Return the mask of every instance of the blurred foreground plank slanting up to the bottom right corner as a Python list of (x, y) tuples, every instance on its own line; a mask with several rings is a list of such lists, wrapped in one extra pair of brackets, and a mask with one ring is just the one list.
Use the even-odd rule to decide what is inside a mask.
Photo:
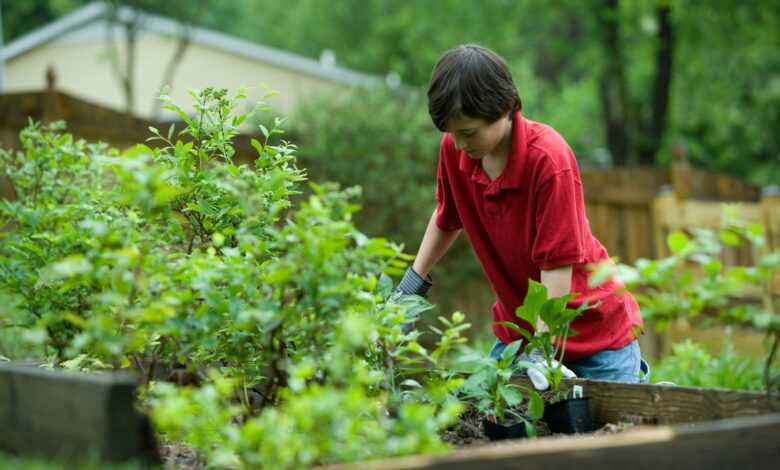
[[(523, 440), (446, 456), (416, 456), (360, 464), (361, 469), (739, 469), (775, 468), (780, 414), (621, 434)], [(357, 465), (347, 468), (358, 468)]]

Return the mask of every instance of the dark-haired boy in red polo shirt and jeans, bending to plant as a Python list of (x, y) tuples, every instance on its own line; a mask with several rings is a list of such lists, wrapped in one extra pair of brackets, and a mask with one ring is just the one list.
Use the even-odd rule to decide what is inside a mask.
[[(465, 230), (497, 297), (492, 357), (520, 338), (499, 322), (546, 328), (515, 315), (534, 279), (551, 297), (573, 293), (572, 308), (595, 305), (572, 323), (577, 335), (562, 358), (566, 376), (638, 382), (640, 369), (648, 370), (634, 297), (614, 280), (588, 286), (587, 265), (609, 255), (590, 232), (577, 161), (554, 129), (521, 109), (511, 73), (494, 52), (468, 44), (441, 57), (428, 88), (428, 110), (444, 133), (437, 207), (399, 290), (425, 295), (428, 273)], [(523, 359), (543, 367), (538, 354)], [(547, 388), (543, 373), (528, 373), (536, 388)]]

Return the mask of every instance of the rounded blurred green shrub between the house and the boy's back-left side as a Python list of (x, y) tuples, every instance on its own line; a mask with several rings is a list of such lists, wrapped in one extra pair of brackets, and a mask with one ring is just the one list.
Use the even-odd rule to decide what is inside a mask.
[[(441, 134), (418, 90), (383, 86), (323, 96), (296, 113), (299, 161), (317, 180), (363, 188), (355, 222), (366, 233), (400, 242), (414, 254), (436, 207), (436, 165)], [(442, 260), (432, 295), (451, 307), (458, 286), (481, 279), (465, 236)], [(478, 312), (489, 319), (490, 312)]]

